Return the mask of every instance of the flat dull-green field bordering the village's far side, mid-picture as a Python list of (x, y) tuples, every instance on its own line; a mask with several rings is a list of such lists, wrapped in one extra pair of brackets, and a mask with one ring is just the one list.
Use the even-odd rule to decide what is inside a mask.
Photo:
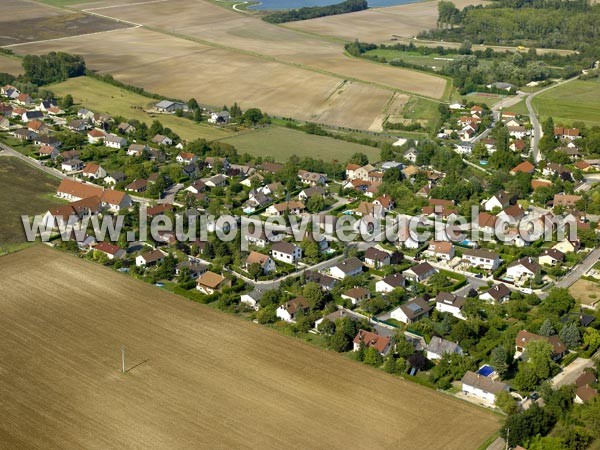
[(279, 162), (286, 162), (292, 155), (310, 156), (326, 161), (346, 161), (356, 152), (364, 153), (371, 162), (379, 161), (378, 148), (277, 126), (242, 133), (220, 141), (234, 145), (239, 153), (272, 156)]

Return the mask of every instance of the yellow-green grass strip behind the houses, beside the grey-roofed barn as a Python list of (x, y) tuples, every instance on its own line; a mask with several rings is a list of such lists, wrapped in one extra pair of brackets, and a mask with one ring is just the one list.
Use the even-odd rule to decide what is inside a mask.
[(210, 141), (233, 134), (231, 131), (208, 124), (197, 124), (171, 114), (146, 113), (144, 110), (149, 105), (157, 103), (158, 100), (129, 92), (94, 78), (71, 78), (62, 83), (53, 84), (48, 89), (59, 97), (71, 94), (76, 103), (94, 112), (137, 119), (146, 122), (148, 125), (155, 119), (159, 120), (165, 127), (181, 136), (182, 139), (189, 141), (200, 138)]

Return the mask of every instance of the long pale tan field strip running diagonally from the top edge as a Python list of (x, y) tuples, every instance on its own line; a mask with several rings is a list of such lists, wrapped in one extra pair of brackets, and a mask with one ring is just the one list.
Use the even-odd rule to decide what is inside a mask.
[(358, 79), (432, 98), (441, 98), (444, 94), (445, 79), (347, 57), (340, 42), (275, 26), (205, 0), (172, 0), (168, 8), (168, 15), (165, 15), (163, 2), (113, 5), (94, 8), (94, 12), (211, 45), (275, 58), (285, 64), (325, 71), (343, 79)]

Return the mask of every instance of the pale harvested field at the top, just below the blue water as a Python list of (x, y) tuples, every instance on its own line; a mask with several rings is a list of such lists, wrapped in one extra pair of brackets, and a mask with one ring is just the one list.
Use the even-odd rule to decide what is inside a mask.
[[(353, 41), (385, 42), (396, 36), (416, 36), (437, 26), (438, 1), (423, 1), (387, 8), (371, 8), (338, 16), (290, 22), (285, 26), (311, 33)], [(457, 8), (481, 5), (482, 0), (456, 0)]]

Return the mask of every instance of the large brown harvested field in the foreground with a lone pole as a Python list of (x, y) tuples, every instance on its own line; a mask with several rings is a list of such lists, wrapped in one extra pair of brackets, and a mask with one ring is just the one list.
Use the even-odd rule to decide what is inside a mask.
[(498, 427), (472, 405), (43, 246), (0, 258), (0, 275), (3, 448), (464, 450)]

